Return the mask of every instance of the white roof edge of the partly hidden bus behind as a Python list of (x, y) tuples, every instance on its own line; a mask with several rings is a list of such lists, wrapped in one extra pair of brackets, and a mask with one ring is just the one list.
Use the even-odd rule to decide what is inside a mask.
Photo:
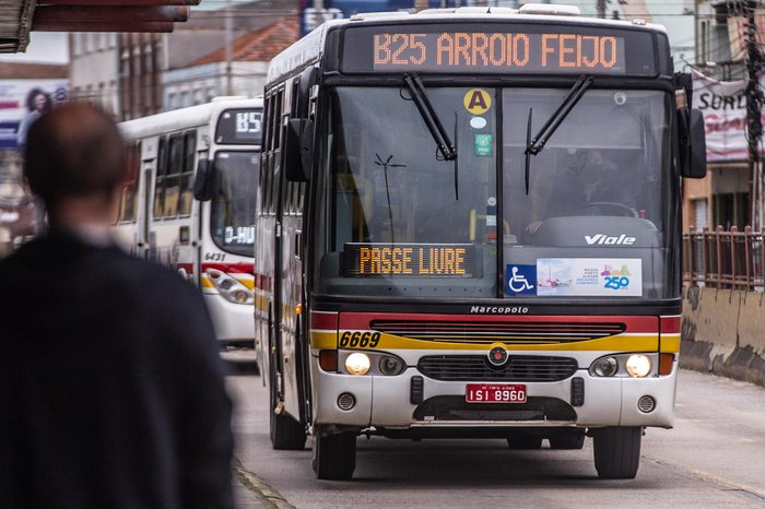
[(263, 99), (247, 97), (215, 97), (210, 103), (127, 120), (119, 125), (128, 140), (160, 135), (210, 123), (214, 115), (229, 108), (262, 108)]

